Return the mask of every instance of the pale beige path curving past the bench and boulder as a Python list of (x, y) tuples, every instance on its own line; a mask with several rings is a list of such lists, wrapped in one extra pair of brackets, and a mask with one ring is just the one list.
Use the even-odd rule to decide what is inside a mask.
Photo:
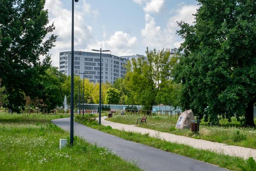
[(149, 135), (152, 137), (156, 136), (157, 134), (157, 136), (160, 136), (162, 139), (165, 139), (165, 141), (177, 142), (179, 144), (186, 144), (194, 148), (207, 149), (207, 150), (215, 151), (216, 153), (227, 154), (229, 156), (238, 156), (244, 159), (248, 159), (249, 157), (253, 157), (254, 159), (256, 158), (256, 149), (245, 148), (240, 146), (231, 146), (231, 145), (227, 145), (219, 142), (211, 142), (203, 139), (194, 139), (194, 138), (185, 137), (185, 136), (178, 136), (178, 135), (170, 134), (167, 132), (159, 132), (152, 129), (138, 127), (135, 125), (126, 125), (126, 124), (120, 124), (117, 122), (106, 121), (105, 118), (106, 117), (101, 118), (101, 124), (103, 124), (104, 126), (109, 125), (113, 129), (140, 132), (142, 134), (149, 133)]

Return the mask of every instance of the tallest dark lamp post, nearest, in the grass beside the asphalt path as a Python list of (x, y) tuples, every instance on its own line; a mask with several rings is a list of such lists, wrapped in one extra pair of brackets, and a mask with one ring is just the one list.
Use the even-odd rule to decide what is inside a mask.
[(70, 106), (70, 145), (74, 142), (74, 1), (72, 0), (72, 23), (71, 23), (71, 106)]

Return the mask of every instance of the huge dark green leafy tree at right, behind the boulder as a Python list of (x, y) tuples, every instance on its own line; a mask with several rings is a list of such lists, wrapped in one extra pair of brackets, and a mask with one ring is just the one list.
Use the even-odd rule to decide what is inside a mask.
[(256, 3), (252, 0), (199, 0), (195, 24), (178, 23), (184, 50), (174, 74), (182, 82), (181, 107), (217, 124), (244, 117), (255, 126)]

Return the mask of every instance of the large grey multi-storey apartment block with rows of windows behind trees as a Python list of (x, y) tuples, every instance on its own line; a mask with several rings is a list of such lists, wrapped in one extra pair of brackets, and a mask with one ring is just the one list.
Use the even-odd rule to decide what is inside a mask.
[[(100, 53), (74, 51), (74, 74), (89, 72), (84, 77), (90, 82), (99, 82)], [(124, 77), (127, 59), (111, 54), (101, 54), (101, 82), (113, 83), (117, 78)], [(71, 75), (71, 51), (60, 52), (59, 70), (66, 75)]]

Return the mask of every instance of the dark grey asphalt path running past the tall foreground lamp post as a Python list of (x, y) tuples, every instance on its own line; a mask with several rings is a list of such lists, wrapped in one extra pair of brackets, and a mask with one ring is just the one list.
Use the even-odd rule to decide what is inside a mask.
[[(69, 131), (70, 118), (54, 119), (52, 122)], [(179, 154), (128, 141), (74, 122), (74, 134), (90, 143), (105, 146), (121, 158), (134, 161), (145, 171), (225, 171), (227, 169), (191, 159)]]

